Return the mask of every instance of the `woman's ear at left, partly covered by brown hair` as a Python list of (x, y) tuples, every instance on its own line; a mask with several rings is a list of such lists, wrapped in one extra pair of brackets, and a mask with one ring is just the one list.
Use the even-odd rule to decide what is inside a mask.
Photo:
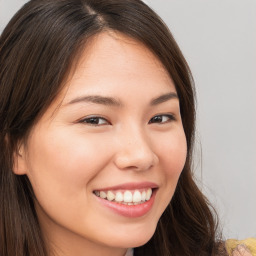
[(25, 146), (22, 144), (13, 153), (13, 172), (16, 175), (24, 175), (27, 174), (27, 169)]

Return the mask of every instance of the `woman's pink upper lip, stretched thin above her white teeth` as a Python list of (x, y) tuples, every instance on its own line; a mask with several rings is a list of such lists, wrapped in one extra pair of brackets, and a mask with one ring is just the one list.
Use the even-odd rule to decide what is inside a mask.
[(153, 182), (129, 182), (123, 183), (111, 187), (99, 188), (94, 191), (103, 191), (103, 190), (134, 190), (134, 189), (143, 189), (143, 188), (158, 188), (158, 185)]

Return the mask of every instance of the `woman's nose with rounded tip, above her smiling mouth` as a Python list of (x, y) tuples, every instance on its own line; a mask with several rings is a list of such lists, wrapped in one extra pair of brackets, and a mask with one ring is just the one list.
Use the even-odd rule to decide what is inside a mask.
[(122, 133), (118, 144), (115, 164), (121, 170), (146, 171), (159, 161), (150, 139), (142, 131)]

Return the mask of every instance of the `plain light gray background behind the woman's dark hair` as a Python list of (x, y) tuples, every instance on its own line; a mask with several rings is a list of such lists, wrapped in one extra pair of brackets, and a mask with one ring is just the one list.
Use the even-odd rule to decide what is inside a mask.
[[(0, 32), (25, 2), (0, 0)], [(227, 238), (256, 237), (256, 0), (145, 2), (167, 23), (194, 75), (200, 186)]]

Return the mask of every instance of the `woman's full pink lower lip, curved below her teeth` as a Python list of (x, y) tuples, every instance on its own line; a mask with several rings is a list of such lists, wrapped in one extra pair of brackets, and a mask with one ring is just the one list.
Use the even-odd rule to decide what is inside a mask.
[(104, 206), (108, 207), (110, 210), (114, 211), (115, 213), (122, 215), (124, 217), (129, 218), (138, 218), (146, 215), (152, 208), (155, 200), (156, 189), (153, 190), (151, 198), (142, 204), (137, 205), (125, 205), (120, 203), (115, 203), (108, 201), (106, 199), (102, 199), (97, 197), (99, 202)]

